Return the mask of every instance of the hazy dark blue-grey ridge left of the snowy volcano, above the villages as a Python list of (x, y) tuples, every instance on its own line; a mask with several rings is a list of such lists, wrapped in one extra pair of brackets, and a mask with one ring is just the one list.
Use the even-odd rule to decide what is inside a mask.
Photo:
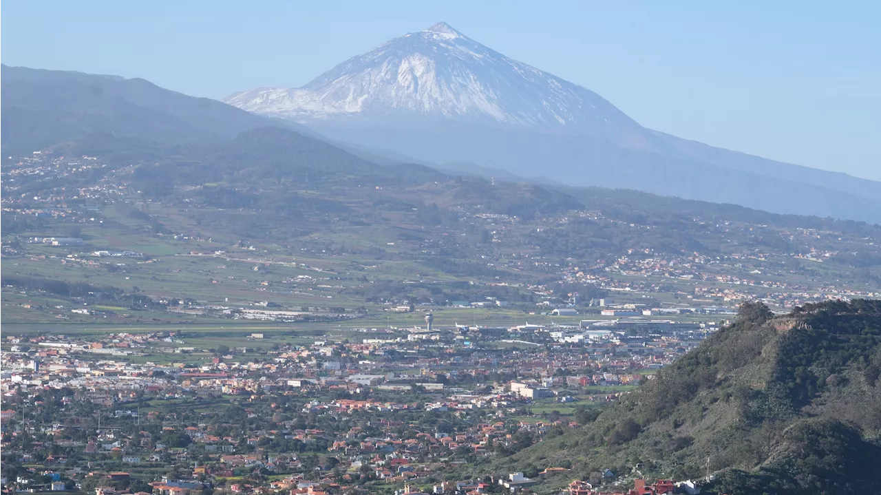
[(268, 125), (299, 128), (144, 79), (0, 65), (0, 150), (115, 140), (189, 144)]

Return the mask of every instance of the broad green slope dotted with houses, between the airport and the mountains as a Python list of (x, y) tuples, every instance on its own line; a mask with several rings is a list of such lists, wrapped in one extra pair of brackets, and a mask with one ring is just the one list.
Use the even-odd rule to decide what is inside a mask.
[[(247, 153), (265, 139), (278, 139), (278, 154), (255, 151), (244, 169), (177, 156), (124, 166), (58, 154), (6, 160), (4, 276), (114, 287), (116, 299), (149, 299), (160, 321), (261, 301), (297, 313), (279, 316), (292, 321), (381, 319), (419, 305), (441, 321), (441, 308), (473, 307), (488, 322), (542, 317), (571, 306), (575, 292), (581, 314), (598, 316), (597, 299), (660, 316), (876, 293), (875, 226), (734, 206), (700, 216), (700, 203), (638, 193), (376, 166), (291, 131), (233, 144)], [(337, 166), (272, 166), (315, 145)], [(72, 316), (41, 301), (60, 294), (11, 285), (11, 304), (31, 306), (26, 320)], [(169, 313), (171, 300), (187, 300), (188, 311)]]

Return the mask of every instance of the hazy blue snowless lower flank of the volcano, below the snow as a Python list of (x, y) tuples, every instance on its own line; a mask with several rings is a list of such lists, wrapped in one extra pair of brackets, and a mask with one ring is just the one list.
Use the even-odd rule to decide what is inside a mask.
[[(881, 223), (881, 191), (878, 196), (868, 192), (860, 195), (854, 184), (871, 191), (878, 183), (844, 174), (807, 169), (817, 176), (769, 176), (774, 167), (738, 169), (698, 158), (628, 149), (599, 138), (456, 122), (409, 128), (328, 124), (313, 127), (338, 141), (395, 150), (426, 162), (475, 163), (521, 177), (573, 186), (629, 188), (661, 196), (740, 204), (774, 213)], [(826, 179), (827, 176), (834, 178)], [(851, 181), (840, 183), (841, 176)], [(811, 177), (817, 183), (807, 183), (802, 177)], [(806, 198), (811, 199), (805, 201)]]

